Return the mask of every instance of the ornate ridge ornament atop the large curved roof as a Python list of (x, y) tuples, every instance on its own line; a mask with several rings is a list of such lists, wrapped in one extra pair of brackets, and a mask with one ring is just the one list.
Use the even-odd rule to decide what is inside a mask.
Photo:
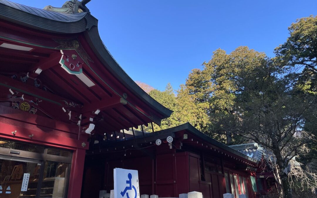
[(51, 5), (45, 6), (44, 10), (50, 10), (53, 12), (62, 12), (66, 14), (77, 14), (81, 12), (88, 12), (90, 13), (89, 9), (86, 7), (86, 4), (89, 3), (91, 0), (70, 0), (66, 1), (61, 8), (56, 8)]

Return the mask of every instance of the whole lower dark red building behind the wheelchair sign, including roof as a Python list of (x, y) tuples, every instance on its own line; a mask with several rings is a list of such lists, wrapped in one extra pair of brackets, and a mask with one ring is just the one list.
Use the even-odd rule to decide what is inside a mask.
[[(136, 133), (137, 131), (134, 131)], [(142, 134), (127, 134), (117, 141), (98, 142), (87, 151), (83, 197), (113, 189), (113, 168), (139, 171), (140, 194), (178, 197), (191, 191), (204, 197), (238, 198), (258, 195), (255, 176), (258, 160), (204, 135), (189, 123)], [(171, 143), (167, 139), (172, 137)], [(156, 140), (161, 140), (160, 145)]]

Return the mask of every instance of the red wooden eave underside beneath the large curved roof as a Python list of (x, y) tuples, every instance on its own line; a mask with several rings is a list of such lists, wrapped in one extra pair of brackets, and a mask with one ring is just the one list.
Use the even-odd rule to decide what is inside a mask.
[[(78, 118), (82, 114), (81, 124), (94, 123), (100, 134), (151, 122), (160, 124), (162, 115), (140, 101), (103, 67), (81, 35), (48, 35), (32, 30), (25, 31), (10, 24), (6, 28), (5, 24), (2, 23), (3, 28), (0, 31), (0, 45), (6, 43), (32, 49), (21, 51), (0, 47), (2, 105), (12, 106), (10, 103), (17, 100), (16, 98), (22, 98), (22, 95), (29, 100), (42, 97), (45, 102), (39, 103), (41, 107), (38, 108), (41, 109), (41, 116), (78, 124)], [(69, 74), (61, 67), (61, 42), (69, 39), (77, 40), (81, 49), (71, 51), (72, 48), (66, 48), (63, 49), (64, 52), (70, 51), (78, 57), (91, 57), (87, 58), (88, 64), (83, 66), (82, 73), (94, 86), (88, 87), (77, 75)], [(37, 68), (42, 68), (40, 74), (34, 73)], [(10, 93), (9, 89), (14, 94)], [(123, 98), (124, 93), (126, 99)], [(50, 105), (52, 101), (53, 105)], [(75, 107), (72, 106), (73, 103)], [(94, 114), (97, 109), (100, 113)], [(67, 119), (68, 117), (71, 118)], [(93, 121), (89, 118), (93, 118)]]

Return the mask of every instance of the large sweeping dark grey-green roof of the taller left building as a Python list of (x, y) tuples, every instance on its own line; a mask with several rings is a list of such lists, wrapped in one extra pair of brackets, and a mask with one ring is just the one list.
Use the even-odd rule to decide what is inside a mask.
[[(89, 2), (87, 0), (84, 1), (85, 3)], [(67, 3), (74, 3), (76, 8), (83, 8), (83, 10), (77, 11), (80, 13), (69, 14), (64, 13), (65, 9), (63, 10), (62, 8), (65, 7), (61, 8), (63, 12), (54, 12), (0, 0), (0, 19), (50, 33), (75, 34), (83, 32), (90, 47), (103, 65), (133, 94), (161, 114), (161, 119), (168, 118), (172, 111), (143, 91), (114, 60), (100, 39), (97, 28), (98, 20), (89, 13), (89, 10), (83, 5), (85, 3), (72, 0), (67, 1), (64, 5)], [(51, 7), (48, 7), (46, 9), (51, 9)]]

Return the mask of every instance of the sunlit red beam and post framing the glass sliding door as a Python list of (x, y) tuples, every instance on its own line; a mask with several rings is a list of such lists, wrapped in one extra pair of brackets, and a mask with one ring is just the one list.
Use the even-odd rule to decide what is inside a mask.
[[(78, 126), (0, 105), (0, 137), (23, 143), (45, 145), (73, 151), (68, 197), (79, 197), (84, 169), (87, 137)], [(12, 134), (16, 131), (16, 134)], [(29, 135), (33, 135), (29, 137)], [(80, 139), (78, 139), (80, 138)], [(85, 147), (82, 147), (85, 143)]]

